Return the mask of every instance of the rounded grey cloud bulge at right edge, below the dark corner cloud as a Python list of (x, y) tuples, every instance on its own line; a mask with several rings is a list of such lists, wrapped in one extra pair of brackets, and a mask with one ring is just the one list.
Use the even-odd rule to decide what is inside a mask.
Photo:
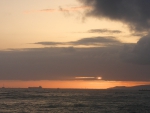
[(130, 63), (150, 65), (150, 35), (142, 37), (134, 47), (124, 47), (122, 58)]

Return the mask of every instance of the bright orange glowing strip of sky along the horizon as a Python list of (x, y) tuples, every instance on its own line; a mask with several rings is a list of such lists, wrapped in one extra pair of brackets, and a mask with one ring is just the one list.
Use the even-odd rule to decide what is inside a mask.
[(0, 81), (0, 87), (5, 88), (28, 88), (28, 87), (38, 87), (43, 88), (72, 88), (72, 89), (107, 89), (115, 86), (137, 86), (137, 85), (150, 85), (150, 82), (144, 81), (84, 81), (84, 80), (74, 80), (74, 81), (19, 81), (19, 80), (5, 80)]

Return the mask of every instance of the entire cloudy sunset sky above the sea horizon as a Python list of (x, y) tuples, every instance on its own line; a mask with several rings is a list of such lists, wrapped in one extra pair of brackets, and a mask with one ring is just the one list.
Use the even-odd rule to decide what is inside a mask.
[(150, 1), (1, 0), (0, 87), (150, 84)]

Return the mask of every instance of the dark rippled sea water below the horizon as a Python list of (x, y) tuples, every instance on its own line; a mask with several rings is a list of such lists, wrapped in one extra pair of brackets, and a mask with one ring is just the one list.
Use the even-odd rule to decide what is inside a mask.
[(0, 89), (0, 113), (150, 113), (150, 91)]

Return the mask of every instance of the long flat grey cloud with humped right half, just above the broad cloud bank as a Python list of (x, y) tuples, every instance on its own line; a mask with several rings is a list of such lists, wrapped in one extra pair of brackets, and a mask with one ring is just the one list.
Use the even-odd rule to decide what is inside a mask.
[(72, 42), (37, 42), (35, 44), (41, 45), (71, 45), (71, 46), (102, 46), (102, 45), (115, 45), (120, 44), (121, 42), (115, 39), (115, 37), (91, 37), (91, 38), (83, 38), (77, 41)]

